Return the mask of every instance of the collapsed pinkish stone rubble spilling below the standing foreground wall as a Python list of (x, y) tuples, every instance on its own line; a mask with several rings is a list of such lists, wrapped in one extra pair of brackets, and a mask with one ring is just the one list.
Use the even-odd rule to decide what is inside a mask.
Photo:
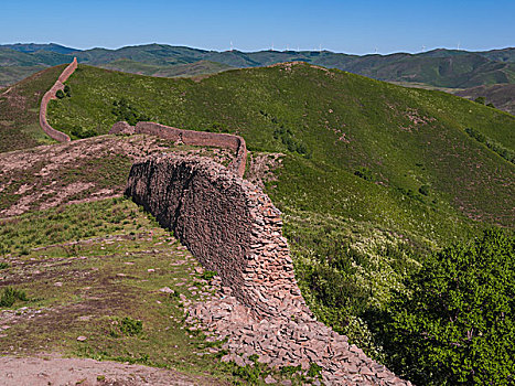
[(328, 385), (410, 385), (326, 325), (313, 319), (281, 315), (259, 321), (227, 293), (230, 291), (191, 305), (186, 319), (189, 323), (200, 322), (196, 328), (215, 331), (217, 340), (227, 339), (223, 349), (230, 354), (222, 361), (251, 365), (249, 356), (256, 354), (260, 363), (276, 368), (301, 365), (307, 371), (315, 363), (322, 367), (322, 379)]

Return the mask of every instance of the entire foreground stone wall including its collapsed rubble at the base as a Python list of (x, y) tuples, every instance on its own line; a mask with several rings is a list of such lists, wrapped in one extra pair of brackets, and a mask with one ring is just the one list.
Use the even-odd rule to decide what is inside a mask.
[(218, 274), (224, 296), (191, 313), (228, 336), (233, 353), (278, 367), (316, 363), (328, 384), (409, 385), (313, 318), (280, 212), (260, 189), (211, 160), (161, 156), (132, 165), (126, 194)]

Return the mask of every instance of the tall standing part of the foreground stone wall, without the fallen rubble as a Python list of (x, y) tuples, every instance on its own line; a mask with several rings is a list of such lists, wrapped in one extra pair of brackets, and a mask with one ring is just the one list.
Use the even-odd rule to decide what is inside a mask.
[(280, 212), (249, 182), (207, 159), (164, 156), (132, 165), (126, 194), (256, 315), (303, 307)]

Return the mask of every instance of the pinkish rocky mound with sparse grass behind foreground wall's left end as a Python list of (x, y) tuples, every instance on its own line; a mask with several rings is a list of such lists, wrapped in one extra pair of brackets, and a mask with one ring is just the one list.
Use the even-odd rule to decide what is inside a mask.
[(175, 147), (153, 136), (103, 136), (0, 153), (0, 218), (118, 196), (133, 161), (169, 151), (213, 157), (223, 164), (232, 159), (227, 150)]

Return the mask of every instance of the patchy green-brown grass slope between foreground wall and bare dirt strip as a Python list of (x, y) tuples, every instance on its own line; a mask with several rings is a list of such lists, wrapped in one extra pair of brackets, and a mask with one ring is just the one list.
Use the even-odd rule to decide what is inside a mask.
[[(0, 340), (3, 355), (58, 352), (235, 385), (265, 385), (269, 374), (293, 385), (316, 377), (222, 363), (223, 342), (206, 341), (190, 329), (181, 300), (212, 293), (214, 272), (197, 274), (193, 256), (128, 200), (32, 212), (1, 229), (2, 243), (10, 239), (26, 248), (26, 254), (10, 249), (3, 258), (9, 264), (2, 269), (0, 308), (19, 313)], [(163, 293), (163, 287), (174, 292)]]

